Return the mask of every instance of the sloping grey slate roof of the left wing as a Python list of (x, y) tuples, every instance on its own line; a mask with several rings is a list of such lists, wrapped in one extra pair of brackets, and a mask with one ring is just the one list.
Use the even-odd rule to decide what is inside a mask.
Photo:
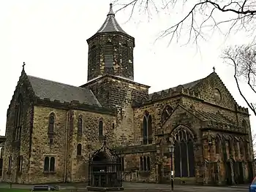
[(50, 101), (59, 100), (61, 102), (79, 101), (83, 104), (102, 107), (94, 94), (87, 88), (75, 87), (61, 82), (45, 80), (39, 77), (28, 75), (31, 86), (39, 99), (48, 98)]

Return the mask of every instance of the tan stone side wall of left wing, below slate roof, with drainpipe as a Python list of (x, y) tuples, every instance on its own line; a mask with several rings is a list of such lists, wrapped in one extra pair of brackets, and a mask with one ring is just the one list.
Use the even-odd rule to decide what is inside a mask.
[[(55, 127), (53, 144), (48, 138), (48, 122), (50, 113), (54, 113)], [(78, 117), (83, 118), (83, 134), (78, 137)], [(68, 118), (68, 121), (67, 121)], [(59, 183), (86, 181), (88, 177), (89, 154), (102, 145), (99, 138), (99, 119), (103, 120), (103, 133), (107, 142), (112, 144), (114, 134), (111, 115), (76, 110), (57, 110), (50, 107), (34, 107), (34, 128), (32, 139), (31, 169), (29, 183)], [(68, 125), (67, 143), (67, 176), (65, 174), (66, 159), (66, 125)], [(82, 145), (81, 155), (77, 155), (77, 146)], [(45, 156), (56, 158), (56, 172), (44, 173)]]

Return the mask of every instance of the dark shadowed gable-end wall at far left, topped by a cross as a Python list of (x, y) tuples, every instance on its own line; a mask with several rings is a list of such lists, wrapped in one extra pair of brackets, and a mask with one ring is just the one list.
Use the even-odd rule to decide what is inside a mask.
[[(4, 145), (3, 181), (12, 183), (26, 183), (29, 180), (29, 169), (31, 160), (31, 130), (33, 127), (33, 94), (28, 88), (29, 82), (24, 73), (21, 75), (14, 95), (7, 110), (7, 124), (5, 136), (7, 140)], [(15, 105), (18, 96), (23, 98), (22, 124), (20, 139), (15, 141)], [(23, 156), (22, 172), (18, 172), (18, 156)], [(12, 167), (8, 170), (9, 161), (12, 157)]]

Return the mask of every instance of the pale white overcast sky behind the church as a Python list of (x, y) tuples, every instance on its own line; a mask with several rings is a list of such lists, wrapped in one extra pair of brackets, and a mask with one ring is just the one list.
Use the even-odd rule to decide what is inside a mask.
[[(70, 85), (86, 82), (86, 39), (102, 26), (109, 4), (108, 0), (0, 1), (0, 134), (5, 133), (7, 108), (23, 61), (27, 74)], [(246, 107), (233, 80), (233, 69), (224, 64), (220, 53), (231, 42), (241, 44), (249, 38), (242, 33), (231, 34), (228, 39), (215, 34), (207, 42), (200, 42), (200, 52), (195, 45), (181, 46), (176, 42), (167, 47), (169, 39), (154, 43), (159, 32), (177, 20), (177, 15), (174, 12), (149, 19), (135, 15), (127, 22), (128, 11), (116, 14), (124, 31), (135, 37), (135, 81), (151, 85), (152, 93), (206, 77), (215, 66), (238, 104)], [(253, 94), (246, 84), (243, 90), (252, 101)], [(251, 126), (256, 128), (254, 115)]]

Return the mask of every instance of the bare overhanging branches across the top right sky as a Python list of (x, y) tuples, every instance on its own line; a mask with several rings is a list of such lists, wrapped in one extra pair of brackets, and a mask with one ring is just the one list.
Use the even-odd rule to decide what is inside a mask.
[[(179, 40), (181, 36), (187, 36), (188, 42), (196, 42), (197, 39), (206, 39), (209, 31), (214, 32), (218, 29), (222, 34), (228, 35), (230, 31), (244, 30), (246, 33), (255, 31), (256, 21), (256, 1), (255, 0), (116, 0), (114, 4), (118, 5), (120, 11), (130, 8), (129, 18), (135, 12), (143, 12), (149, 17), (152, 12), (170, 13), (170, 19), (179, 17), (176, 23), (166, 28), (159, 37), (170, 37)], [(183, 14), (180, 7), (187, 9)], [(173, 12), (178, 15), (172, 17)], [(187, 33), (181, 35), (181, 31)], [(205, 33), (206, 32), (206, 33)]]

